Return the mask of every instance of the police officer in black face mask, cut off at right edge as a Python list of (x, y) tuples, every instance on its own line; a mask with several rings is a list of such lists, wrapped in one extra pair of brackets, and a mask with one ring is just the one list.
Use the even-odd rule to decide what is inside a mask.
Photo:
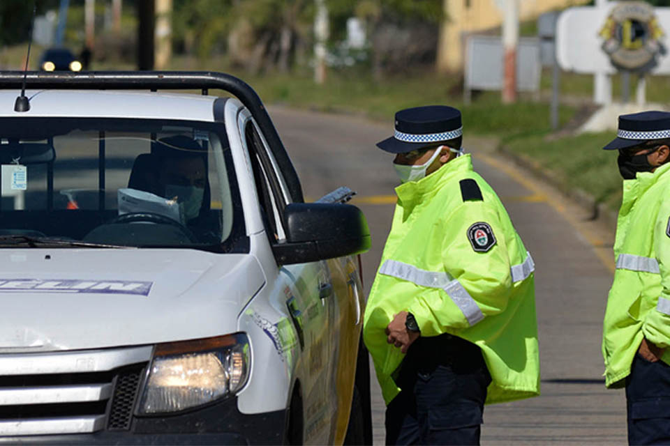
[(623, 176), (602, 353), (607, 387), (626, 387), (628, 441), (670, 444), (670, 113), (619, 116)]

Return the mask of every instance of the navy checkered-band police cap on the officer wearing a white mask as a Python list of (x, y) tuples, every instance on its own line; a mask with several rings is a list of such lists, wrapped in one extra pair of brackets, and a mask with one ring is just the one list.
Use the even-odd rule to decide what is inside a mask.
[(396, 113), (395, 134), (377, 143), (382, 151), (407, 153), (456, 139), (463, 134), (461, 112), (446, 105), (428, 105)]

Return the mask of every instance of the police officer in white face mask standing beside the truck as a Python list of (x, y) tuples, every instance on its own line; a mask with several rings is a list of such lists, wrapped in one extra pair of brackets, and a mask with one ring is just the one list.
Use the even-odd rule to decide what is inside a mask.
[(484, 403), (539, 394), (535, 265), (462, 133), (415, 107), (378, 144), (402, 182), (364, 321), (387, 444), (478, 444)]

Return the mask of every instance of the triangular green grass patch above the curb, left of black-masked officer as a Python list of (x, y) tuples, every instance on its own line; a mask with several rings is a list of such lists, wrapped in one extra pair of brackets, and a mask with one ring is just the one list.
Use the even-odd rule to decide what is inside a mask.
[(551, 138), (548, 134), (510, 137), (502, 141), (507, 151), (535, 160), (569, 189), (587, 192), (599, 203), (616, 210), (621, 201), (621, 176), (616, 151), (604, 151), (613, 132)]

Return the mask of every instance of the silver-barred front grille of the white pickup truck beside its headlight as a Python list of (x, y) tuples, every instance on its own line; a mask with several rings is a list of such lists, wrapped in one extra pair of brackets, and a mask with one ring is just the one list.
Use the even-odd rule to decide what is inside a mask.
[(150, 346), (0, 355), (0, 436), (129, 429), (150, 357)]

